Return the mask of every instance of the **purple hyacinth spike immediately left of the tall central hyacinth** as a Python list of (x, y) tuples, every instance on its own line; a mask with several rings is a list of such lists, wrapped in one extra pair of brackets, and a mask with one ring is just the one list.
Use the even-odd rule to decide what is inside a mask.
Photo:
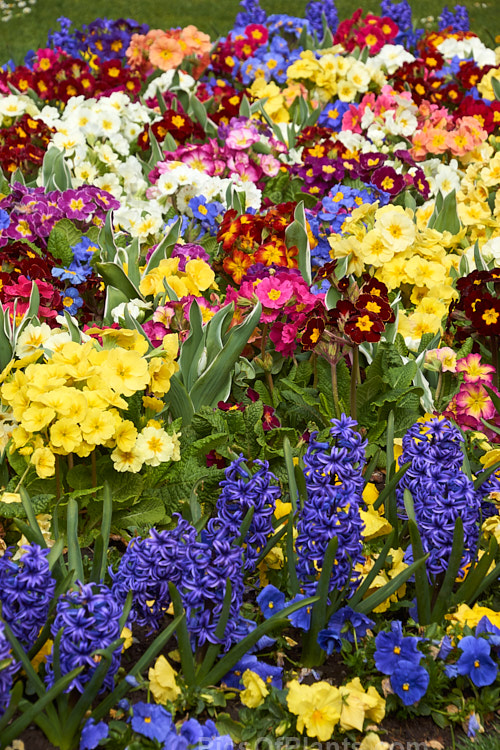
[(207, 529), (212, 538), (236, 539), (246, 514), (253, 508), (252, 522), (244, 540), (245, 570), (251, 571), (273, 533), (272, 516), (281, 490), (277, 478), (269, 471), (268, 461), (254, 461), (259, 467), (255, 474), (249, 474), (242, 466), (244, 461), (244, 456), (240, 455), (225, 470), (216, 516), (209, 521)]

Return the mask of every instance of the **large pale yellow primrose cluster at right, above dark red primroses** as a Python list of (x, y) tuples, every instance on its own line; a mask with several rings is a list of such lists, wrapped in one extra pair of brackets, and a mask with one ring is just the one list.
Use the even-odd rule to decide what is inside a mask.
[(450, 270), (460, 264), (465, 236), (465, 229), (452, 235), (430, 229), (427, 221), (402, 206), (363, 204), (345, 220), (342, 233), (328, 240), (332, 258), (350, 256), (348, 273), (361, 276), (372, 269), (389, 290), (401, 290), (405, 306), (415, 306), (399, 315), (399, 331), (415, 341), (442, 330), (449, 304), (458, 296)]

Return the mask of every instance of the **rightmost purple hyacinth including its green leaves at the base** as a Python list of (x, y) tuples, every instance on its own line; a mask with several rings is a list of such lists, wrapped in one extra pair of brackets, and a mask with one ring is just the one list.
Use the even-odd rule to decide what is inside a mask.
[[(473, 482), (462, 469), (462, 443), (458, 428), (438, 417), (417, 422), (403, 438), (401, 461), (410, 466), (396, 495), (409, 523), (406, 560), (427, 557), (415, 577), (421, 624), (440, 621), (451, 602), (472, 602), (500, 570), (488, 573), (494, 545), (477, 560), (483, 501), (500, 490), (500, 480), (488, 474), (485, 481), (480, 473)], [(457, 577), (465, 575), (457, 587)]]

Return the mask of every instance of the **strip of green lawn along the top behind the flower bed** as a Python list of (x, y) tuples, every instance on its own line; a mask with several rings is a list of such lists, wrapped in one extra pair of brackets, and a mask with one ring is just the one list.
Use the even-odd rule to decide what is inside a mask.
[[(0, 0), (0, 19), (5, 16), (6, 6), (16, 7), (24, 1)], [(486, 44), (494, 46), (493, 38), (500, 33), (500, 6), (496, 0), (459, 2), (469, 11), (471, 28)], [(410, 0), (410, 4), (414, 20), (422, 26), (422, 19), (437, 20), (446, 0)], [(454, 7), (454, 4), (454, 0), (448, 0), (449, 7)], [(262, 0), (261, 5), (268, 13), (303, 17), (307, 0)], [(337, 0), (336, 5), (341, 20), (350, 17), (359, 5), (365, 11), (380, 12), (378, 0), (361, 3)], [(193, 23), (215, 39), (229, 31), (238, 10), (238, 0), (181, 0), (179, 3), (169, 0), (36, 0), (30, 13), (23, 15), (19, 10), (11, 20), (0, 21), (0, 63), (13, 59), (19, 64), (29, 49), (44, 47), (49, 30), (58, 28), (59, 16), (71, 18), (76, 27), (99, 17), (134, 18), (151, 28), (161, 29)]]

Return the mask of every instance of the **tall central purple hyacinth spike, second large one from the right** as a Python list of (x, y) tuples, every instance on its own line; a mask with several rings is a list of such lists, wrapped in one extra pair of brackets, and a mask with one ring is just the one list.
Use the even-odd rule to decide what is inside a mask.
[(297, 575), (309, 596), (316, 593), (319, 571), (333, 537), (338, 539), (338, 549), (330, 591), (342, 589), (351, 569), (362, 560), (359, 506), (367, 441), (356, 432), (357, 422), (345, 414), (331, 422), (332, 443), (318, 442), (317, 433), (313, 433), (304, 456), (307, 500), (299, 513), (296, 548)]

